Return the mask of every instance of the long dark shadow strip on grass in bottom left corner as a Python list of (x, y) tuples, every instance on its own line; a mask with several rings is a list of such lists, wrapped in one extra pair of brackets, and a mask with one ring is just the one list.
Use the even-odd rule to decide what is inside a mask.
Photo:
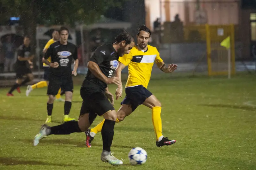
[(50, 165), (50, 166), (78, 166), (58, 163), (48, 163), (36, 160), (20, 160), (19, 158), (0, 157), (0, 164), (3, 165)]

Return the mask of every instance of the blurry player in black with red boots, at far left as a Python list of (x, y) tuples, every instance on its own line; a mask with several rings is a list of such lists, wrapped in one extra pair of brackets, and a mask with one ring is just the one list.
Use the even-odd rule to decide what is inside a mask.
[(31, 68), (33, 68), (33, 63), (31, 62), (31, 60), (34, 58), (34, 55), (31, 53), (31, 47), (29, 46), (29, 44), (30, 39), (28, 36), (25, 36), (23, 44), (19, 47), (18, 58), (15, 63), (17, 80), (10, 89), (10, 91), (7, 93), (7, 96), (13, 96), (12, 92), (15, 89), (17, 89), (17, 91), (20, 93), (20, 86), (34, 79), (34, 76), (30, 70)]

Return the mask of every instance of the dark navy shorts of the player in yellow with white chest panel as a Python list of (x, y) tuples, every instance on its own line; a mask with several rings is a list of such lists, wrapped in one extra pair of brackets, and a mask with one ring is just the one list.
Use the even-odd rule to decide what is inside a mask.
[(143, 104), (146, 98), (153, 95), (148, 89), (143, 87), (142, 85), (134, 86), (134, 87), (127, 87), (125, 88), (124, 100), (121, 104), (131, 104), (132, 105), (132, 112), (140, 105)]

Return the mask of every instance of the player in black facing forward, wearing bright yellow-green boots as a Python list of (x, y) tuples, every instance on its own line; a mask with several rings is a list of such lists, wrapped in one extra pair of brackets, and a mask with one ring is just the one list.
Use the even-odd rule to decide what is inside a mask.
[[(69, 118), (68, 114), (71, 109), (71, 101), (73, 96), (73, 80), (72, 74), (76, 76), (78, 67), (77, 48), (75, 44), (68, 42), (68, 28), (60, 27), (60, 41), (52, 43), (44, 56), (44, 63), (51, 66), (49, 86), (47, 89), (47, 120), (52, 121), (52, 109), (55, 95), (61, 88), (65, 91), (64, 118), (63, 122), (72, 121), (75, 119)], [(51, 63), (47, 60), (51, 57)], [(71, 62), (74, 59), (74, 69), (71, 71)]]

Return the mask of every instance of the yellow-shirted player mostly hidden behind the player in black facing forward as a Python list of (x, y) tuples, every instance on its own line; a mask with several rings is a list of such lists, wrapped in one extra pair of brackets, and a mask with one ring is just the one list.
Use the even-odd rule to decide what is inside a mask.
[[(47, 44), (44, 46), (44, 50), (43, 50), (43, 53), (46, 52), (46, 50), (50, 47), (50, 45), (56, 41), (58, 41), (60, 39), (60, 35), (59, 35), (59, 32), (58, 30), (54, 30), (52, 32), (52, 39), (49, 40), (47, 42)], [(51, 62), (51, 57), (49, 57), (47, 59), (49, 62)], [(44, 63), (44, 58), (43, 58), (43, 67), (44, 67), (44, 80), (45, 81), (40, 81), (32, 86), (28, 86), (27, 87), (27, 90), (26, 90), (26, 96), (29, 95), (29, 93), (33, 90), (33, 89), (37, 89), (37, 88), (43, 88), (43, 87), (47, 87), (48, 84), (49, 84), (49, 74), (50, 74), (50, 66), (48, 66), (47, 64)], [(64, 99), (62, 99), (60, 97), (60, 90), (58, 92), (58, 94), (56, 95), (56, 100), (57, 101), (61, 101), (61, 102), (65, 102)]]

